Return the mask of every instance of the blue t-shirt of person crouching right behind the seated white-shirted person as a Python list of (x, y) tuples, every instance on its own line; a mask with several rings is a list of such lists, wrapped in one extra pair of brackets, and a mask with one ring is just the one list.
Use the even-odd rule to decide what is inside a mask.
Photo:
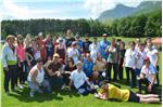
[(84, 61), (83, 69), (87, 77), (92, 73), (93, 62), (88, 62), (87, 59)]

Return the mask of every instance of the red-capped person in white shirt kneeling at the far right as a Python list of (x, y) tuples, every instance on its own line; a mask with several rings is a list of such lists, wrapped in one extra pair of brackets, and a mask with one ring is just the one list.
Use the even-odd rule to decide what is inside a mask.
[(142, 83), (147, 85), (147, 93), (153, 93), (153, 88), (156, 84), (156, 68), (150, 63), (149, 57), (145, 57), (145, 65), (141, 68), (138, 83), (139, 93), (141, 93)]

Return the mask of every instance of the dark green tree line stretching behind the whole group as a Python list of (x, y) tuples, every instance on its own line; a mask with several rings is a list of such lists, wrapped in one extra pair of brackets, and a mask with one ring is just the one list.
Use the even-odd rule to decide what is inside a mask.
[(98, 19), (18, 19), (2, 21), (1, 37), (8, 35), (37, 36), (38, 32), (52, 36), (65, 36), (66, 29), (74, 35), (101, 36), (106, 32), (111, 36), (121, 37), (161, 37), (162, 36), (162, 12), (155, 11), (147, 14), (128, 16), (113, 21), (111, 25), (104, 25)]

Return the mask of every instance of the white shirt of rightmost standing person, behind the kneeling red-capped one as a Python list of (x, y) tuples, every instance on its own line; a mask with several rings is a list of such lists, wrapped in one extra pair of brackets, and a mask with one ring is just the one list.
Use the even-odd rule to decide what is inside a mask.
[(147, 56), (150, 58), (150, 62), (153, 66), (155, 66), (155, 61), (156, 61), (156, 57), (158, 57), (156, 53), (158, 53), (156, 49), (152, 49), (151, 51), (149, 50), (147, 52)]

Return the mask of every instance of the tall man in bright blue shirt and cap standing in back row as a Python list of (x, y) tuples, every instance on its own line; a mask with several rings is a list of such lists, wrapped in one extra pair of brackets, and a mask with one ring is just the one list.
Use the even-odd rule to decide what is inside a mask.
[(100, 41), (100, 53), (101, 53), (102, 58), (106, 59), (108, 56), (106, 56), (106, 54), (105, 54), (105, 49), (106, 49), (108, 45), (110, 45), (111, 43), (110, 43), (110, 41), (106, 40), (106, 38), (108, 38), (108, 35), (106, 35), (106, 34), (103, 34), (102, 37), (103, 37), (103, 40)]

